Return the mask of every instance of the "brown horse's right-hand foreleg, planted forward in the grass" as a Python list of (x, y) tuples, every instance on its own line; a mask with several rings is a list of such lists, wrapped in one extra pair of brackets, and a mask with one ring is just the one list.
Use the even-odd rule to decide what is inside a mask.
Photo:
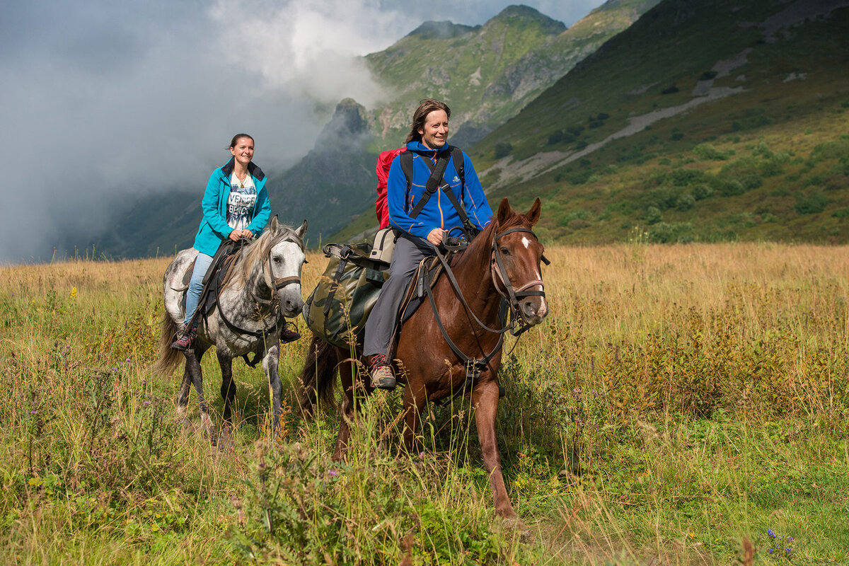
[(475, 405), (475, 424), (478, 439), (481, 440), (483, 463), (489, 474), (495, 511), (503, 518), (515, 517), (516, 512), (510, 504), (504, 477), (501, 474), (501, 455), (498, 453), (498, 440), (495, 436), (495, 415), (498, 412), (498, 382), (494, 379), (475, 385), (472, 392)]

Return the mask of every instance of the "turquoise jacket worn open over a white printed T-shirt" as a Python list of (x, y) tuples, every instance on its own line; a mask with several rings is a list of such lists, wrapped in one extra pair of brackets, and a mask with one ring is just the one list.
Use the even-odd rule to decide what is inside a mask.
[[(227, 199), (230, 196), (230, 176), (233, 175), (233, 158), (226, 165), (212, 171), (209, 182), (206, 183), (204, 199), (200, 208), (204, 211), (200, 228), (194, 237), (194, 249), (206, 255), (215, 255), (218, 246), (226, 240), (233, 228), (227, 223)], [(248, 164), (248, 172), (253, 177), (256, 187), (256, 202), (252, 220), (247, 227), (254, 236), (259, 236), (271, 216), (271, 204), (265, 188), (266, 176), (262, 170), (253, 164)]]

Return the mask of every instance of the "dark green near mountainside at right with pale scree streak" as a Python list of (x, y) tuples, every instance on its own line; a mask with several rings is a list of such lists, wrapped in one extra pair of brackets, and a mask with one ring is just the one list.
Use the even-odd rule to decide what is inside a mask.
[(666, 0), (470, 153), (550, 240), (846, 242), (846, 37), (846, 1)]

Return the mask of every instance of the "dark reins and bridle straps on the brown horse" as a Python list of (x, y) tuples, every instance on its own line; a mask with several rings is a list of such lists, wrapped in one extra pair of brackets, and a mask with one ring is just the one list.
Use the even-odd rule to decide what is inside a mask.
[[(527, 322), (524, 314), (522, 314), (519, 300), (528, 296), (545, 297), (545, 291), (543, 290), (543, 282), (540, 280), (534, 280), (529, 283), (525, 283), (518, 289), (515, 289), (514, 286), (510, 283), (509, 275), (507, 274), (507, 270), (504, 267), (503, 261), (501, 259), (501, 252), (498, 250), (498, 239), (502, 238), (503, 236), (506, 236), (509, 233), (515, 232), (526, 232), (533, 235), (534, 238), (537, 237), (536, 234), (531, 231), (531, 229), (524, 227), (510, 228), (509, 230), (505, 230), (503, 233), (493, 235), (492, 237), (492, 260), (490, 261), (490, 274), (492, 276), (492, 283), (495, 287), (496, 292), (501, 295), (503, 299), (508, 300), (509, 308), (511, 311), (509, 324), (504, 328), (499, 329), (489, 328), (488, 326), (486, 326), (486, 323), (482, 322), (481, 319), (478, 318), (477, 315), (475, 315), (475, 312), (472, 311), (471, 307), (469, 306), (469, 303), (465, 300), (465, 297), (463, 296), (463, 291), (462, 289), (460, 289), (459, 283), (457, 282), (457, 278), (454, 277), (451, 266), (448, 265), (445, 256), (442, 255), (438, 246), (434, 246), (434, 249), (436, 249), (436, 257), (441, 262), (442, 267), (445, 270), (446, 276), (448, 277), (448, 281), (451, 283), (451, 286), (454, 289), (454, 293), (457, 294), (458, 299), (463, 305), (463, 308), (466, 313), (469, 314), (482, 329), (486, 330), (486, 332), (498, 334), (498, 343), (495, 345), (495, 347), (489, 354), (483, 356), (482, 358), (472, 358), (467, 356), (463, 352), (463, 350), (459, 349), (458, 345), (454, 344), (451, 337), (448, 336), (448, 332), (445, 328), (445, 325), (442, 324), (441, 317), (439, 316), (439, 311), (436, 309), (436, 299), (433, 296), (433, 282), (430, 281), (430, 274), (425, 275), (425, 277), (427, 277), (427, 284), (424, 285), (424, 290), (427, 293), (428, 300), (430, 300), (430, 308), (433, 311), (434, 318), (436, 319), (436, 325), (439, 327), (439, 330), (442, 333), (442, 338), (445, 339), (447, 345), (451, 348), (454, 354), (457, 355), (458, 358), (460, 358), (460, 360), (464, 362), (464, 365), (466, 367), (466, 380), (463, 387), (461, 389), (458, 389), (458, 391), (455, 392), (454, 395), (447, 398), (447, 400), (443, 401), (443, 403), (447, 403), (447, 401), (453, 399), (454, 396), (467, 389), (469, 385), (474, 384), (477, 378), (481, 377), (481, 373), (483, 373), (483, 370), (486, 369), (486, 367), (489, 365), (489, 362), (492, 360), (492, 357), (494, 357), (498, 353), (498, 351), (501, 350), (504, 343), (504, 333), (510, 332), (517, 338), (515, 344), (513, 345), (513, 347), (515, 348), (516, 345), (519, 344), (518, 338), (520, 337), (520, 335), (524, 333), (528, 328), (531, 328), (532, 325)], [(548, 259), (544, 257), (543, 261), (546, 265), (549, 264)], [(505, 289), (504, 292), (502, 292), (501, 289), (498, 289), (498, 282), (496, 279), (497, 274), (498, 280), (501, 281), (503, 288)], [(526, 290), (537, 285), (539, 285), (540, 287), (540, 290), (538, 291)], [(515, 330), (516, 323), (518, 321), (521, 321), (521, 325), (518, 330)], [(512, 351), (512, 349), (510, 351)]]

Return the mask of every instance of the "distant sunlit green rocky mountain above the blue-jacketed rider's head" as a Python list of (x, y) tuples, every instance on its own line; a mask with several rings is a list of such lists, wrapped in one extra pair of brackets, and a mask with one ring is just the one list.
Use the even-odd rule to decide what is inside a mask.
[(470, 146), (656, 3), (609, 2), (568, 30), (526, 6), (475, 27), (427, 22), (366, 57), (390, 92), (372, 112), (374, 132), (383, 143), (402, 141), (413, 109), (430, 96), (453, 109), (453, 143)]

